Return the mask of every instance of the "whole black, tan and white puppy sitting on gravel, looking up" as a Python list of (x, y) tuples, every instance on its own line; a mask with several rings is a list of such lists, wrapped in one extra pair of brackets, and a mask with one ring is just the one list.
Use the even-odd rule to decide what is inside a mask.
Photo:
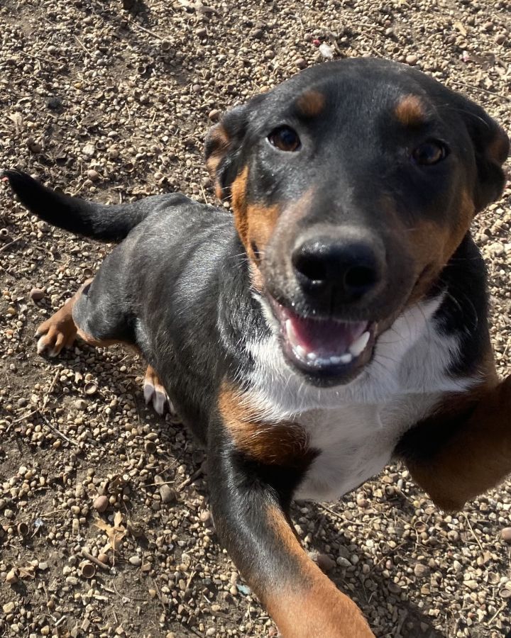
[(121, 241), (38, 351), (76, 335), (141, 350), (145, 395), (160, 411), (168, 395), (207, 447), (218, 535), (287, 637), (373, 635), (307, 559), (292, 498), (338, 498), (397, 457), (454, 510), (511, 471), (511, 377), (495, 374), (469, 232), (508, 148), (468, 99), (362, 59), (307, 69), (211, 130), (233, 217), (5, 173), (40, 218)]

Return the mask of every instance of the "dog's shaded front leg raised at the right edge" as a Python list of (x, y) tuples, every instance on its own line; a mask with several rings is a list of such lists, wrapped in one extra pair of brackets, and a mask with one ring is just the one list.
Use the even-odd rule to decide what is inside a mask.
[(451, 396), (397, 452), (436, 505), (461, 510), (511, 473), (511, 376)]

